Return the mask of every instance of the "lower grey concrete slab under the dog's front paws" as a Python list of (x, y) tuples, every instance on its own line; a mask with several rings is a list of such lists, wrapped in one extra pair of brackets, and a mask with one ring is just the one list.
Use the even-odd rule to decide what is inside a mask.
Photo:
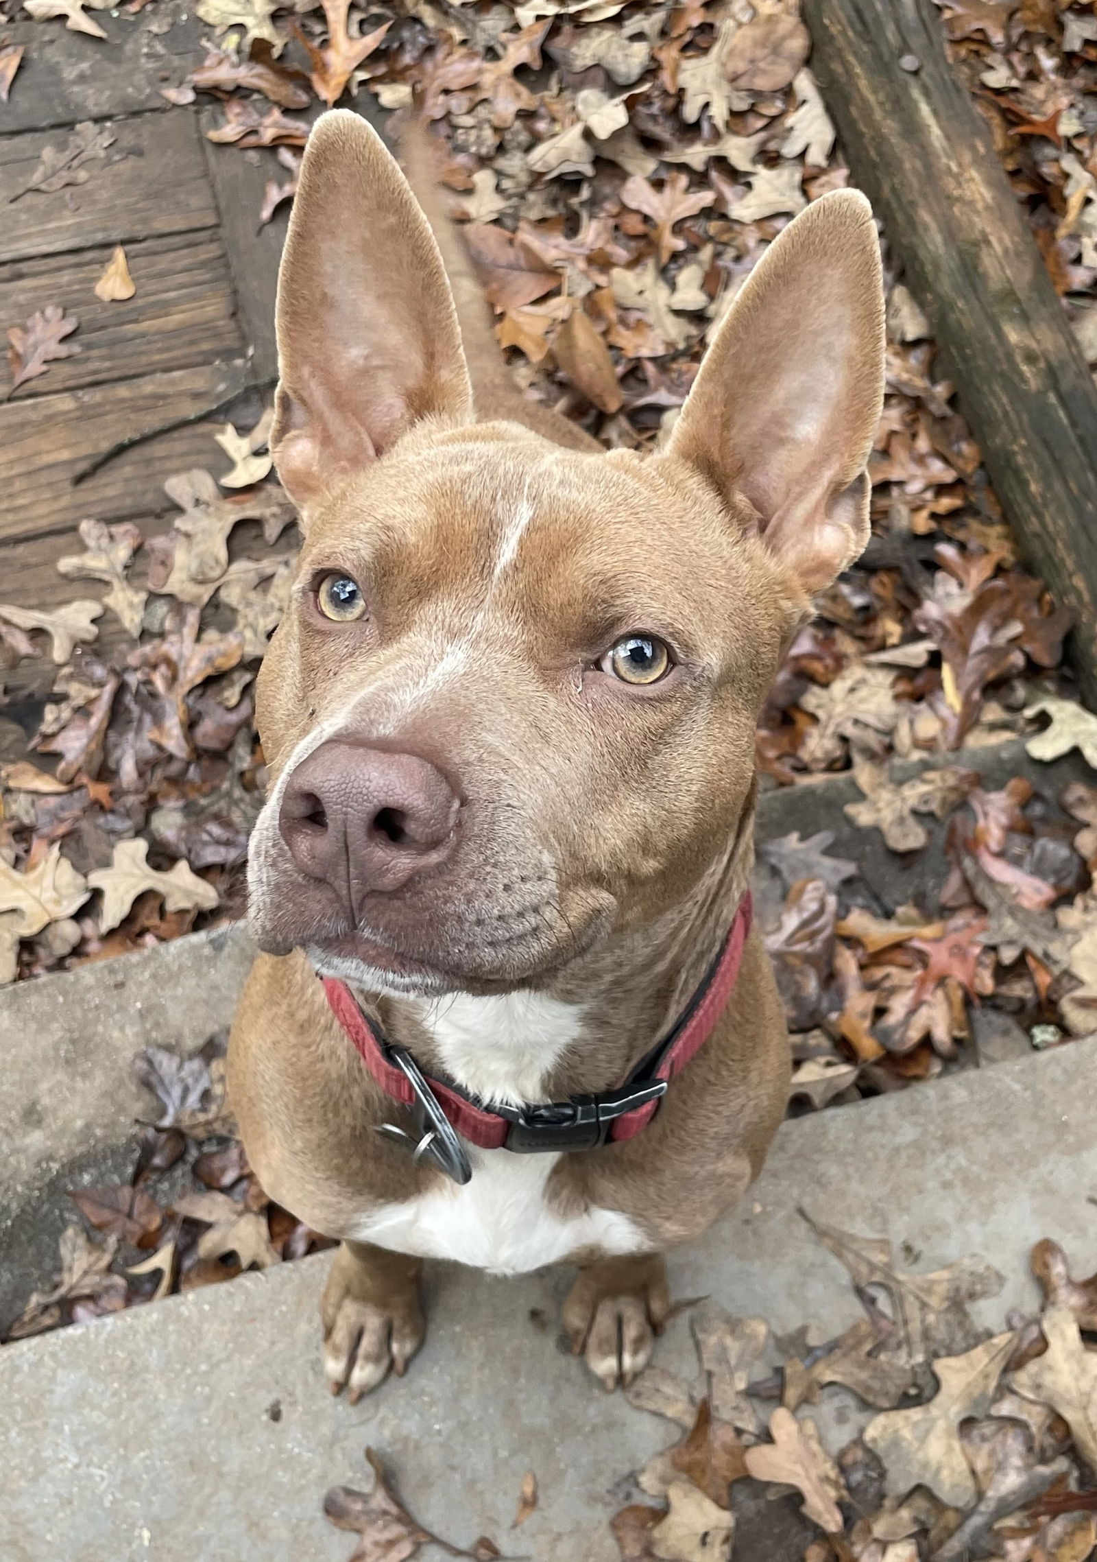
[[(1036, 1239), (1060, 1240), (1081, 1273), (1097, 1267), (1091, 1193), (1097, 1040), (785, 1123), (743, 1211), (674, 1256), (674, 1292), (712, 1293), (782, 1332), (808, 1320), (841, 1329), (858, 1306), (799, 1218), (805, 1206), (908, 1243), (918, 1270), (982, 1253), (1005, 1275), (1002, 1295), (980, 1303), (983, 1321), (1000, 1325), (1008, 1307), (1035, 1304)], [(674, 1429), (559, 1354), (568, 1273), (507, 1281), (435, 1267), (431, 1331), (409, 1376), (351, 1407), (320, 1375), (326, 1265), (323, 1254), (5, 1346), (0, 1557), (345, 1562), (353, 1542), (320, 1503), (328, 1485), (368, 1484), (368, 1442), (412, 1512), (459, 1545), (488, 1534), (537, 1562), (613, 1562), (612, 1489)], [(691, 1370), (683, 1318), (660, 1353)], [(858, 1417), (838, 1392), (827, 1418), (843, 1439)], [(513, 1535), (527, 1468), (541, 1504)], [(780, 1537), (782, 1506), (755, 1509), (737, 1562), (801, 1562), (805, 1537)]]

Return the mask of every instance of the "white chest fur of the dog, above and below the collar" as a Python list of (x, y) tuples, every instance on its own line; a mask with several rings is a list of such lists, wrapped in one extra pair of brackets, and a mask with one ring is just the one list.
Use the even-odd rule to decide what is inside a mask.
[[(445, 1072), (485, 1101), (543, 1100), (543, 1079), (577, 1036), (582, 1011), (538, 993), (446, 998), (423, 1014)], [(648, 1243), (627, 1215), (591, 1207), (560, 1215), (546, 1201), (559, 1154), (470, 1148), (473, 1178), (368, 1211), (351, 1232), (418, 1257), (502, 1275), (554, 1264), (579, 1248), (623, 1254)]]

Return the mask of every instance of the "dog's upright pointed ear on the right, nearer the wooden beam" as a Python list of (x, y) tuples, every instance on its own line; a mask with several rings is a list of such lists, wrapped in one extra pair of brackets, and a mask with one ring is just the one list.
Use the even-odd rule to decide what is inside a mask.
[[(883, 281), (855, 191), (769, 245), (705, 355), (668, 453), (704, 472), (811, 594), (869, 539), (864, 470), (883, 401)], [(735, 503), (738, 501), (738, 503)]]

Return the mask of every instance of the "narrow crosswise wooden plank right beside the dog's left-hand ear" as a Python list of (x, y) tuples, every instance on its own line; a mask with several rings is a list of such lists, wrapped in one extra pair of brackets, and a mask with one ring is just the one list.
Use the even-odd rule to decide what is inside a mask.
[[(360, 92), (351, 108), (368, 119), (375, 130), (384, 133), (387, 119), (371, 92)], [(318, 106), (295, 119), (312, 120)], [(217, 108), (201, 111), (203, 131), (220, 125), (223, 114)], [(286, 169), (272, 150), (240, 152), (206, 141), (209, 177), (217, 194), (222, 214), (222, 233), (233, 267), (236, 297), (240, 305), (240, 322), (254, 355), (259, 380), (273, 380), (278, 373), (278, 350), (275, 347), (275, 291), (278, 286), (278, 262), (286, 242), (290, 203), (275, 212), (272, 222), (259, 226), (267, 180), (284, 184)]]

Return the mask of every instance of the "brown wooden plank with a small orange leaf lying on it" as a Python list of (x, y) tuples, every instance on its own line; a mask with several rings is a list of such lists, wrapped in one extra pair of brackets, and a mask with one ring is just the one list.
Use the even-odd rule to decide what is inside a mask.
[(119, 303), (95, 297), (111, 247), (48, 255), (0, 266), (0, 322), (30, 319), (62, 305), (80, 319), (73, 358), (16, 392), (23, 401), (103, 380), (186, 369), (218, 358), (243, 358), (228, 259), (217, 233), (169, 234), (126, 245), (137, 292)]

